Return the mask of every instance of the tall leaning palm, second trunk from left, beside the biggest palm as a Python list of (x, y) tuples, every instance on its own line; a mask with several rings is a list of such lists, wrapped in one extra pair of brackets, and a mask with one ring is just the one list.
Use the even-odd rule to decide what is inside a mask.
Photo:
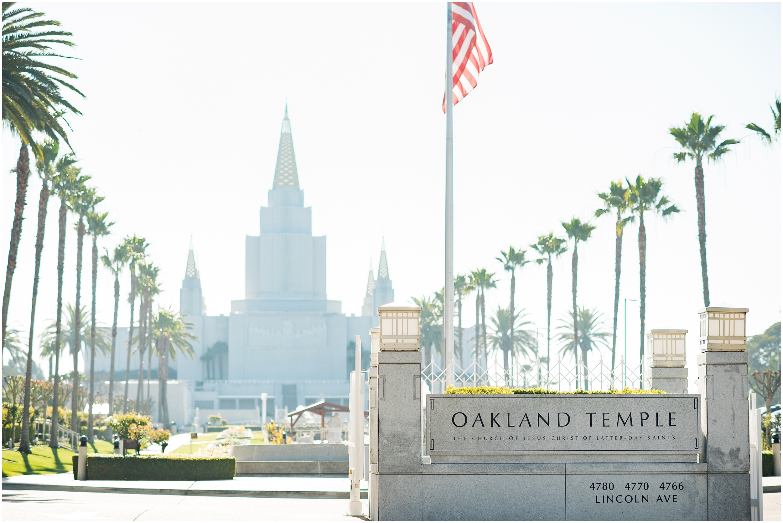
[(35, 237), (35, 269), (33, 276), (33, 296), (30, 312), (30, 338), (27, 347), (27, 371), (24, 384), (24, 407), (22, 414), (22, 440), (20, 442), (20, 452), (30, 453), (30, 398), (31, 398), (31, 380), (33, 369), (33, 336), (35, 328), (35, 305), (38, 300), (38, 280), (41, 272), (41, 251), (44, 248), (44, 232), (46, 224), (46, 211), (49, 207), (49, 180), (57, 172), (65, 170), (76, 161), (73, 155), (66, 154), (57, 160), (57, 154), (60, 152), (60, 144), (54, 140), (45, 140), (43, 146), (40, 146), (41, 158), (36, 162), (38, 175), (41, 176), (41, 196), (38, 199), (38, 233)]

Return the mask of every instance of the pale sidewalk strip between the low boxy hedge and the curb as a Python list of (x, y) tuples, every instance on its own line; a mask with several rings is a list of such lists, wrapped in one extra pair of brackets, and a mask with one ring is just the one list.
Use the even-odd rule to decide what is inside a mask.
[[(2, 478), (2, 488), (62, 492), (115, 492), (175, 496), (258, 496), (348, 499), (348, 478), (237, 477), (207, 482), (125, 482), (74, 480), (74, 474), (30, 474)], [(363, 497), (367, 483), (362, 482)]]

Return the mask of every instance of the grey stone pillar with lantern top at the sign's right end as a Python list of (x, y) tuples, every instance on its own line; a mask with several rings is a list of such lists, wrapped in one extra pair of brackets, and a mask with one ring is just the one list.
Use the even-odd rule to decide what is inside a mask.
[(730, 307), (699, 311), (698, 389), (710, 520), (750, 519), (747, 312)]

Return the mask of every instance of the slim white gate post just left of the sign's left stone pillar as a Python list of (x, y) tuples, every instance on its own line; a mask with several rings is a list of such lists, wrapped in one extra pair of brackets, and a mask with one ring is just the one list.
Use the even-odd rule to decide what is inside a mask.
[(348, 502), (348, 515), (361, 516), (363, 514), (361, 485), (362, 485), (362, 455), (364, 453), (364, 406), (360, 403), (360, 388), (364, 388), (362, 381), (362, 338), (356, 336), (355, 352), (356, 370), (351, 373), (351, 395), (349, 399), (349, 418), (351, 430), (348, 434), (348, 480), (351, 482), (351, 501)]

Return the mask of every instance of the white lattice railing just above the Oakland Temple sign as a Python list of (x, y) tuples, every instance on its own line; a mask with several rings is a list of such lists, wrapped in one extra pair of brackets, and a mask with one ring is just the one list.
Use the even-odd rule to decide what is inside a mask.
[[(502, 356), (501, 356), (502, 357)], [(435, 359), (424, 365), (421, 379), (428, 385), (431, 394), (441, 394), (446, 390), (446, 373)], [(599, 359), (591, 369), (579, 362), (564, 362), (557, 359), (549, 369), (547, 364), (536, 359), (532, 363), (512, 362), (506, 369), (502, 359), (489, 362), (489, 366), (481, 362), (471, 362), (465, 369), (454, 363), (455, 387), (505, 386), (511, 388), (541, 387), (558, 391), (574, 391), (583, 389), (589, 391), (606, 391), (610, 388), (640, 388), (644, 375), (640, 373), (639, 365), (626, 365), (620, 359), (612, 370), (611, 366)]]

